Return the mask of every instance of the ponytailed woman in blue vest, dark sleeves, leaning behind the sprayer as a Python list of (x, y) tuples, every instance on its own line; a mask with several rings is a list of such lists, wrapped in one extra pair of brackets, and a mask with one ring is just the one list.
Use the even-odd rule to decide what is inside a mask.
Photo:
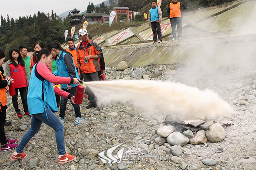
[[(57, 70), (54, 71), (54, 75), (61, 77), (78, 78), (78, 72), (76, 71), (75, 63), (72, 55), (64, 50), (59, 43), (49, 43), (45, 47), (52, 52), (52, 56), (56, 59)], [(69, 92), (72, 95), (76, 93), (77, 84), (61, 84), (61, 89)], [(60, 121), (65, 121), (65, 111), (67, 107), (67, 99), (61, 98), (60, 100)], [(80, 107), (78, 104), (71, 102), (75, 109), (76, 118), (74, 120), (75, 125), (78, 125), (82, 121)]]

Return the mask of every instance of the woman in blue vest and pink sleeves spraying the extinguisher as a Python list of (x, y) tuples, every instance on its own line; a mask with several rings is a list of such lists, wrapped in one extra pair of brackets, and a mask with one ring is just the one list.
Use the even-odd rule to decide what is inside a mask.
[[(47, 49), (37, 51), (38, 63), (32, 69), (30, 75), (29, 93), (27, 95), (27, 103), (29, 106), (31, 118), (31, 126), (27, 133), (23, 136), (16, 151), (11, 156), (11, 160), (26, 158), (24, 147), (29, 140), (39, 131), (42, 122), (55, 130), (57, 149), (59, 151), (58, 163), (67, 163), (73, 161), (76, 157), (69, 155), (65, 151), (64, 126), (53, 113), (58, 111), (55, 94), (64, 98), (69, 98), (74, 102), (74, 96), (59, 89), (55, 84), (71, 83), (77, 84), (76, 78), (64, 78), (55, 76), (48, 69), (52, 62), (52, 53)], [(53, 84), (55, 83), (55, 84)]]

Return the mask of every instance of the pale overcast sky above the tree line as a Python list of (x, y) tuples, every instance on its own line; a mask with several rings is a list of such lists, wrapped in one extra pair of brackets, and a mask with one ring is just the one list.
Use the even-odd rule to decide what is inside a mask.
[(33, 16), (38, 11), (44, 13), (56, 12), (57, 15), (72, 10), (79, 9), (80, 12), (86, 10), (89, 2), (94, 5), (102, 3), (104, 0), (1, 0), (0, 14), (7, 19), (18, 19), (19, 16)]

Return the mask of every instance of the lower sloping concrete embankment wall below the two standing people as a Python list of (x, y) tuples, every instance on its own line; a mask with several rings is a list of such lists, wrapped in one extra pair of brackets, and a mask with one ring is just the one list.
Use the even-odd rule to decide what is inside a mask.
[(217, 68), (235, 62), (253, 66), (255, 47), (256, 34), (253, 34), (102, 47), (102, 51), (106, 66), (111, 67), (126, 61), (129, 67), (181, 63)]

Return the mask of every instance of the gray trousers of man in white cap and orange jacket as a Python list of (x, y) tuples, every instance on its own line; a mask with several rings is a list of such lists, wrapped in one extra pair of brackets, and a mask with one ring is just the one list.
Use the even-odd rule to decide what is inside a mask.
[[(98, 72), (86, 73), (86, 74), (82, 74), (82, 76), (83, 76), (84, 82), (99, 81)], [(85, 94), (88, 95), (88, 100), (90, 101), (90, 103), (96, 104), (96, 97), (93, 91), (87, 86), (85, 88)]]

